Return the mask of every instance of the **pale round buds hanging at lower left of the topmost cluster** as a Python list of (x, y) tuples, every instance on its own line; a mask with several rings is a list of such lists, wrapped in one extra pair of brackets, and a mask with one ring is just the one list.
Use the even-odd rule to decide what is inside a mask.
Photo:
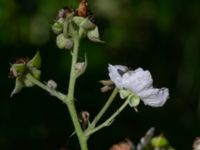
[(71, 49), (73, 47), (73, 40), (66, 38), (63, 34), (59, 34), (56, 39), (56, 44), (60, 49)]

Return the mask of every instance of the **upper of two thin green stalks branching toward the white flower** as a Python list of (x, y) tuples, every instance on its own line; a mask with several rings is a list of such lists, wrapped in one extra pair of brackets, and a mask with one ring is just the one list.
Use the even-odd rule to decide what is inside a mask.
[(109, 99), (107, 100), (107, 102), (103, 106), (103, 108), (100, 110), (100, 112), (97, 114), (97, 116), (94, 118), (94, 120), (90, 124), (89, 130), (93, 129), (96, 126), (97, 122), (101, 119), (101, 117), (107, 111), (107, 109), (109, 108), (109, 106), (111, 105), (111, 103), (113, 102), (115, 97), (117, 96), (117, 94), (118, 94), (118, 89), (115, 88), (113, 90), (112, 94), (110, 95)]

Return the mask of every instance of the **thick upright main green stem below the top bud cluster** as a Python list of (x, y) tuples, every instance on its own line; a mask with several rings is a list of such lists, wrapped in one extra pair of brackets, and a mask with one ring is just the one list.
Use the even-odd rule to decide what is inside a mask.
[(78, 37), (74, 38), (74, 48), (72, 53), (72, 64), (71, 64), (71, 71), (70, 71), (70, 79), (69, 79), (69, 88), (68, 88), (68, 98), (66, 99), (66, 103), (69, 109), (69, 113), (78, 136), (78, 140), (81, 146), (81, 150), (88, 150), (87, 148), (87, 137), (85, 136), (80, 122), (78, 120), (78, 115), (76, 112), (76, 108), (74, 105), (74, 89), (76, 84), (76, 63), (78, 58), (78, 50), (79, 50), (79, 43), (80, 39)]

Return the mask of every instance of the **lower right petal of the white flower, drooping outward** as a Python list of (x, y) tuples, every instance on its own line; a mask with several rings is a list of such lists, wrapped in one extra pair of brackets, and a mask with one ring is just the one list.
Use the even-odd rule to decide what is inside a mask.
[(150, 88), (138, 93), (138, 95), (145, 105), (149, 105), (152, 107), (161, 107), (169, 98), (169, 90), (168, 88)]

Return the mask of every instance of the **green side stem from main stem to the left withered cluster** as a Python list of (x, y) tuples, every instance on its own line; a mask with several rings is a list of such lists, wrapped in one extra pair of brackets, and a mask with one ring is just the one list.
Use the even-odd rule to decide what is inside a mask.
[(26, 78), (33, 82), (35, 85), (39, 86), (40, 88), (44, 89), (45, 91), (49, 92), (51, 95), (57, 97), (59, 100), (65, 103), (65, 100), (67, 99), (67, 96), (61, 92), (58, 92), (56, 90), (50, 91), (49, 87), (39, 80), (35, 79), (31, 74), (27, 74)]

